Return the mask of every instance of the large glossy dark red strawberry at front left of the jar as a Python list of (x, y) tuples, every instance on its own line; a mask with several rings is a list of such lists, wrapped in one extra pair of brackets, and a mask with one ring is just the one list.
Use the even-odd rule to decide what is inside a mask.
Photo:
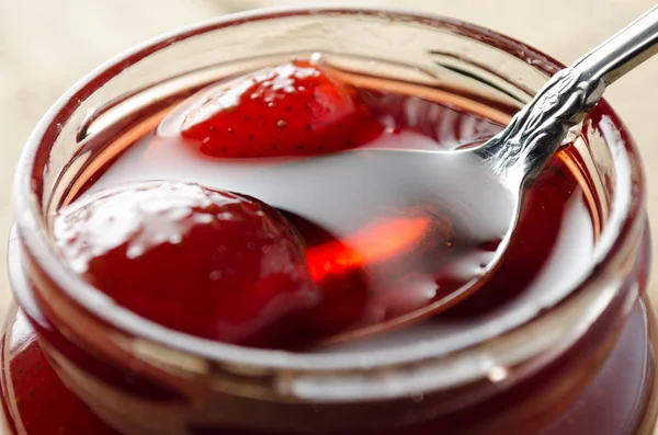
[(56, 218), (70, 267), (118, 305), (171, 329), (287, 346), (320, 304), (304, 245), (272, 207), (179, 182), (90, 195)]

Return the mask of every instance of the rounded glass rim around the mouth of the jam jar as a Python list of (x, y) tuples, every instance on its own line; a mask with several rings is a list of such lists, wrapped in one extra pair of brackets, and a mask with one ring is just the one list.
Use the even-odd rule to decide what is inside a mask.
[[(442, 378), (445, 378), (445, 382), (457, 381), (457, 378), (476, 378), (486, 373), (490, 364), (495, 364), (498, 360), (496, 355), (502, 355), (503, 351), (506, 351), (500, 348), (500, 341), (497, 342), (496, 347), (491, 347), (494, 345), (491, 340), (472, 343), (467, 346), (455, 344), (452, 347), (445, 345), (445, 343), (423, 341), (422, 343), (408, 344), (405, 347), (395, 350), (327, 355), (247, 348), (172, 331), (114, 305), (109, 297), (87, 284), (68, 267), (65, 267), (50, 241), (47, 224), (43, 217), (44, 210), (41, 201), (43, 186), (34, 182), (36, 171), (38, 170), (37, 164), (44, 164), (44, 162), (38, 162), (38, 151), (53, 146), (58, 137), (59, 127), (67, 122), (79, 104), (92, 95), (95, 90), (102, 88), (104, 83), (124, 68), (135, 65), (162, 48), (208, 32), (209, 30), (229, 27), (247, 21), (271, 20), (288, 15), (324, 14), (364, 14), (416, 22), (436, 27), (449, 27), (456, 33), (479, 38), (479, 41), (486, 44), (495, 45), (498, 49), (521, 58), (529, 65), (533, 65), (535, 69), (545, 75), (552, 75), (563, 67), (541, 51), (494, 31), (458, 20), (408, 12), (400, 9), (382, 10), (352, 7), (272, 8), (222, 16), (161, 35), (118, 55), (82, 78), (53, 105), (37, 124), (27, 140), (14, 179), (14, 218), (23, 249), (70, 301), (112, 325), (117, 331), (139, 339), (145, 346), (147, 344), (161, 346), (200, 357), (204, 360), (228, 365), (243, 365), (262, 370), (359, 371), (365, 367), (372, 370), (376, 367), (418, 365), (422, 360), (445, 358), (446, 360), (451, 360), (453, 366), (457, 363), (460, 364), (458, 374), (456, 371), (451, 374), (450, 370), (445, 370), (441, 375)], [(619, 124), (619, 119), (612, 119), (612, 122)], [(634, 242), (633, 237), (629, 237), (629, 234), (637, 231), (638, 227), (644, 227), (644, 215), (640, 213), (644, 204), (644, 186), (638, 157), (632, 145), (626, 144), (621, 137), (617, 144), (609, 144), (610, 146), (617, 148), (614, 150), (615, 152), (612, 152), (615, 170), (615, 193), (605, 226), (594, 247), (591, 266), (586, 271), (583, 281), (578, 287), (595, 285), (601, 279), (601, 274), (606, 268), (610, 268), (609, 263), (616, 256), (620, 256), (621, 253), (627, 251), (628, 247)], [(560, 306), (565, 310), (563, 312), (564, 316), (569, 313), (571, 316), (577, 310), (583, 308), (597, 309), (597, 307), (586, 305), (585, 299), (565, 301)], [(592, 316), (594, 316), (594, 311), (592, 311)], [(567, 319), (572, 320), (572, 316), (567, 316)], [(581, 316), (579, 319), (579, 321), (586, 320), (587, 316)], [(501, 334), (518, 330), (519, 327), (525, 323), (527, 322), (521, 321), (519, 324), (510, 325)], [(506, 351), (506, 360), (513, 363), (514, 358), (526, 358), (529, 353), (540, 354), (551, 348), (553, 345), (552, 341), (559, 341), (560, 335), (564, 336), (563, 334), (574, 328), (574, 322), (563, 323), (560, 325), (557, 319), (552, 319), (551, 321), (546, 319), (546, 322), (542, 324), (537, 323), (534, 328), (533, 336), (543, 334), (544, 340), (536, 341), (532, 346), (523, 350), (523, 352), (519, 350), (517, 350), (519, 352), (512, 352), (511, 348), (508, 348)], [(545, 331), (540, 332), (537, 328), (544, 328)], [(498, 337), (501, 334), (498, 334)], [(466, 358), (477, 362), (477, 364), (465, 364)], [(483, 360), (489, 363), (483, 364)], [(452, 379), (447, 379), (451, 376)], [(435, 382), (438, 381), (435, 380)]]

